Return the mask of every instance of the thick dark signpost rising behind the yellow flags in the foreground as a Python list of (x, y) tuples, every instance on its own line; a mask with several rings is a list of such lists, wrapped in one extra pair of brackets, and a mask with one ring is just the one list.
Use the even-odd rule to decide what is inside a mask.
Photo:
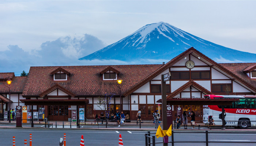
[[(161, 75), (161, 88), (162, 88), (162, 118), (163, 118), (163, 130), (168, 130), (167, 127), (167, 100), (166, 100), (166, 82), (163, 81), (163, 74)], [(164, 143), (163, 146), (168, 146), (168, 143)]]

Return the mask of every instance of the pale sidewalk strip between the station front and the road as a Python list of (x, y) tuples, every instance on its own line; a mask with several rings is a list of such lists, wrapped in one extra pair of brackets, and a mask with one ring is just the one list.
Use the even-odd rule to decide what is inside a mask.
[[(64, 128), (63, 126), (63, 121), (57, 121), (57, 128), (55, 126), (55, 121), (50, 121), (50, 124), (53, 124), (53, 127), (50, 126), (50, 128), (48, 128), (48, 125), (45, 126), (45, 122), (44, 121), (34, 121), (35, 126), (37, 126), (37, 124), (41, 124), (42, 127), (30, 127), (31, 123), (29, 123), (29, 121), (27, 123), (22, 123), (23, 127), (16, 127), (16, 121), (11, 121), (11, 123), (9, 123), (9, 121), (0, 121), (0, 128), (10, 128), (10, 129), (35, 129), (35, 130), (102, 130), (102, 131), (110, 131), (110, 130), (114, 130), (114, 131), (157, 131), (157, 129), (155, 128), (155, 124), (153, 124), (153, 121), (149, 122), (143, 122), (141, 123), (141, 128), (139, 128), (139, 123), (137, 125), (137, 123), (135, 121), (131, 121), (131, 122), (127, 122), (125, 123), (125, 125), (121, 125), (120, 127), (117, 127), (117, 122), (108, 122), (108, 128), (106, 128), (106, 123), (104, 122), (103, 124), (101, 124), (101, 121), (98, 121), (99, 124), (97, 124), (97, 122), (95, 122), (96, 124), (94, 124), (94, 121), (90, 121), (90, 122), (86, 122), (86, 125), (84, 125), (84, 122), (80, 122), (80, 128), (76, 127), (76, 122), (71, 122), (71, 127), (70, 128), (70, 122), (64, 121)], [(82, 125), (83, 124), (83, 125)], [(191, 129), (191, 126), (188, 125), (188, 129), (183, 129), (183, 126), (181, 126), (180, 129), (174, 129), (174, 125), (173, 125), (173, 130), (174, 131), (220, 131), (220, 132), (256, 132), (256, 127), (253, 128), (249, 128), (249, 129), (235, 129), (235, 128), (226, 128), (226, 130), (221, 130), (221, 128), (212, 128), (207, 129), (207, 128), (201, 128), (200, 130), (198, 129), (198, 125), (204, 125), (204, 123), (197, 123), (197, 125), (195, 126), (195, 129)], [(159, 124), (162, 127), (162, 123)]]

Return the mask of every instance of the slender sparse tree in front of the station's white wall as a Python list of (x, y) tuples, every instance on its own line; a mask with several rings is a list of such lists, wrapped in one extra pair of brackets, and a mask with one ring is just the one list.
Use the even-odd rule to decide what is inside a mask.
[(106, 119), (109, 118), (109, 112), (110, 112), (110, 105), (111, 105), (111, 99), (112, 97), (114, 96), (115, 94), (113, 93), (107, 93), (105, 94), (105, 97), (102, 98), (102, 97), (99, 97), (98, 98), (98, 102), (97, 102), (97, 106), (105, 111), (105, 115), (106, 115)]

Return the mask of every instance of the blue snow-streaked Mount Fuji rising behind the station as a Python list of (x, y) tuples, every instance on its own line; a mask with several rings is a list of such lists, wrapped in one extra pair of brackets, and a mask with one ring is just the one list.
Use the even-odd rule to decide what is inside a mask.
[(256, 54), (230, 49), (206, 41), (168, 23), (143, 26), (131, 35), (79, 60), (116, 59), (172, 59), (194, 47), (218, 63), (255, 62)]

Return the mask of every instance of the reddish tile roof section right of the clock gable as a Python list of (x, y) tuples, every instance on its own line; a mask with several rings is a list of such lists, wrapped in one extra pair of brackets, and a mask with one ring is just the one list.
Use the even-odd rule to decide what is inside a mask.
[(247, 76), (246, 73), (242, 72), (244, 69), (248, 68), (249, 66), (253, 66), (256, 63), (228, 63), (228, 64), (219, 64), (229, 70), (230, 72), (236, 74), (238, 77), (242, 78), (244, 81), (251, 84), (253, 87), (256, 88), (256, 80), (251, 79)]

